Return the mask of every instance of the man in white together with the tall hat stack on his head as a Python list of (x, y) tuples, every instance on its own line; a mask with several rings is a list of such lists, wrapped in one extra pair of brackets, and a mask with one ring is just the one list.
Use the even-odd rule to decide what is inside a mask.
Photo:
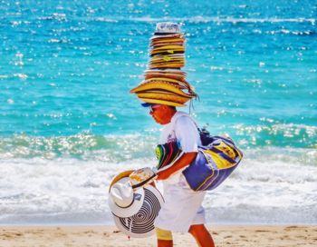
[[(164, 39), (165, 35), (168, 36), (167, 42), (175, 42), (173, 45), (178, 45), (178, 47), (170, 46), (171, 48), (175, 48), (170, 53), (176, 52), (178, 57), (179, 54), (183, 55), (181, 53), (183, 50), (180, 48), (183, 42), (180, 39), (184, 35), (180, 33), (179, 25), (170, 23), (158, 24), (153, 38), (158, 39), (161, 37)], [(173, 41), (172, 37), (175, 37), (175, 41)], [(165, 42), (161, 42), (166, 45)], [(155, 44), (159, 44), (159, 40)], [(158, 50), (156, 48), (156, 51)], [(166, 62), (168, 62), (167, 60), (165, 59)], [(137, 95), (140, 94), (138, 97), (144, 102), (142, 105), (149, 108), (149, 114), (156, 123), (163, 125), (159, 144), (178, 142), (179, 149), (182, 151), (173, 165), (168, 166), (167, 169), (159, 170), (157, 173), (157, 180), (163, 183), (164, 190), (164, 203), (154, 222), (158, 237), (158, 246), (173, 246), (171, 232), (190, 232), (199, 246), (214, 246), (213, 239), (204, 225), (206, 222), (205, 211), (201, 205), (206, 192), (194, 192), (191, 190), (182, 173), (196, 159), (198, 145), (201, 144), (201, 141), (196, 123), (188, 114), (178, 112), (176, 106), (184, 106), (196, 94), (193, 92), (192, 87), (181, 77), (184, 74), (180, 74), (180, 70), (177, 71), (175, 69), (178, 65), (180, 68), (182, 64), (175, 65), (175, 61), (171, 61), (170, 73), (166, 73), (165, 70), (160, 71), (159, 68), (153, 70), (152, 64), (155, 63), (151, 63), (151, 71), (150, 73), (149, 71), (147, 72), (146, 78), (155, 81), (153, 80), (153, 76), (159, 75), (160, 81), (163, 82), (164, 74), (168, 74), (165, 77), (166, 79), (177, 78), (179, 84), (169, 80), (166, 80), (166, 83), (153, 83), (148, 87), (141, 84), (139, 86), (142, 86), (143, 90), (138, 91), (133, 89), (131, 92)], [(173, 71), (175, 71), (174, 75)], [(154, 75), (150, 76), (150, 74)], [(159, 79), (156, 81), (159, 81)], [(173, 86), (175, 86), (175, 89), (171, 88)], [(180, 93), (180, 90), (187, 90), (187, 96)]]

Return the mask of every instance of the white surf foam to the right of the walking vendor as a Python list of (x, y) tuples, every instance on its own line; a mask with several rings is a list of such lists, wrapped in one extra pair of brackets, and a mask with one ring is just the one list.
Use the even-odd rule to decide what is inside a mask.
[(317, 167), (245, 159), (204, 205), (209, 222), (316, 223)]

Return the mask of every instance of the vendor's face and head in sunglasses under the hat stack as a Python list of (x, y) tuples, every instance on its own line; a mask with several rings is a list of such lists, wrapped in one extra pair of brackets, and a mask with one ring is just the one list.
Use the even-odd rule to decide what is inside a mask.
[(173, 115), (177, 112), (175, 106), (166, 104), (150, 104), (149, 114), (153, 117), (155, 122), (159, 124), (167, 124), (170, 122)]

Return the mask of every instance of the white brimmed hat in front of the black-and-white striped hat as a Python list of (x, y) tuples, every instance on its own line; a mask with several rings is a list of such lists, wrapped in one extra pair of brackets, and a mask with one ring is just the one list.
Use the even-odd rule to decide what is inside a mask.
[(133, 191), (130, 178), (121, 178), (110, 188), (109, 206), (111, 212), (118, 217), (130, 217), (139, 212), (144, 201), (144, 190)]

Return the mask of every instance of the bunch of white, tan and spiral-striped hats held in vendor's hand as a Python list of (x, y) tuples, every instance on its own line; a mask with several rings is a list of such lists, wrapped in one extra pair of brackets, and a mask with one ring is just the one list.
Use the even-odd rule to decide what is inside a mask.
[(120, 173), (112, 180), (109, 206), (121, 232), (130, 237), (144, 238), (155, 233), (154, 220), (164, 201), (157, 188), (149, 181), (154, 173), (149, 173), (147, 169), (141, 173), (140, 177), (148, 179), (150, 184), (133, 190), (130, 185), (130, 175), (133, 172)]

